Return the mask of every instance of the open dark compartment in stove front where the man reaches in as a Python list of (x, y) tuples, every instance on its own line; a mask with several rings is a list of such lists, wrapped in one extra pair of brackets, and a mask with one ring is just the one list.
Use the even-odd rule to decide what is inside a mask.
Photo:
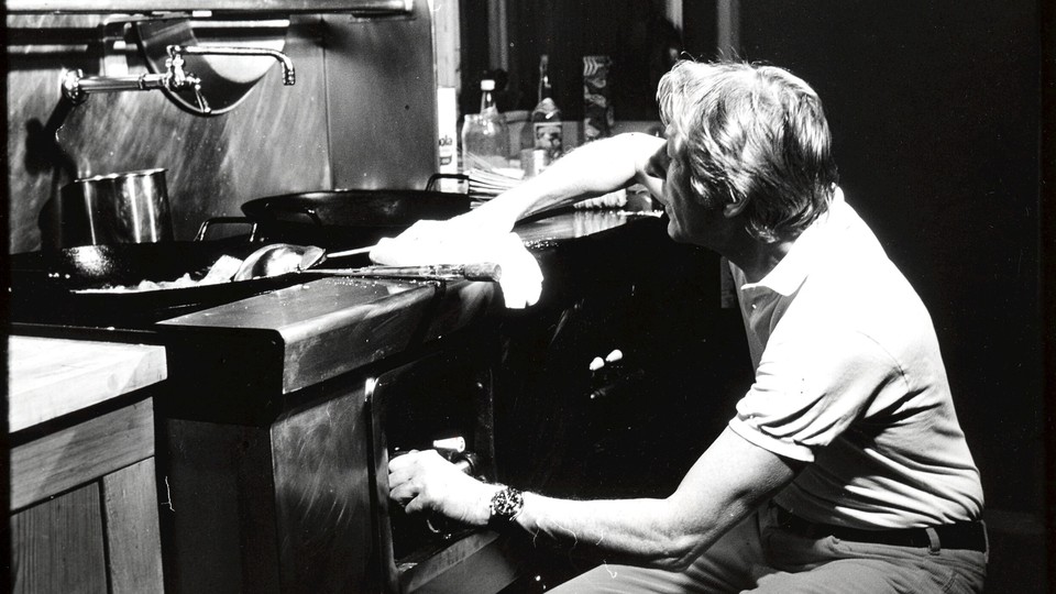
[[(491, 351), (494, 353), (495, 351)], [(490, 358), (444, 351), (391, 370), (367, 386), (372, 418), (377, 550), (389, 592), (499, 592), (518, 576), (505, 539), (484, 529), (410, 516), (388, 498), (388, 461), (461, 440), (448, 450), (466, 472), (495, 480)]]

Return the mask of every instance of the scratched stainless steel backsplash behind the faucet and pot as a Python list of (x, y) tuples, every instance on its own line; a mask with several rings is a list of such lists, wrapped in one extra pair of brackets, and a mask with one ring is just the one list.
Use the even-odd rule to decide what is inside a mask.
[(297, 84), (283, 86), (276, 66), (220, 116), (190, 114), (161, 91), (94, 95), (64, 113), (65, 69), (101, 74), (120, 59), (128, 74), (146, 72), (135, 47), (105, 51), (101, 24), (112, 19), (8, 16), (9, 253), (48, 246), (42, 216), (76, 177), (165, 167), (175, 239), (189, 240), (204, 220), (240, 215), (253, 198), (421, 188), (436, 170), (426, 0), (411, 16), (293, 16), (285, 52)]

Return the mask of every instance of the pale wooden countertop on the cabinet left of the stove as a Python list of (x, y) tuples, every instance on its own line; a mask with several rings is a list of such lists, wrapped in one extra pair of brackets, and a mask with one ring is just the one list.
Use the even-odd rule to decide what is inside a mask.
[(81, 410), (166, 376), (164, 346), (9, 337), (9, 431)]

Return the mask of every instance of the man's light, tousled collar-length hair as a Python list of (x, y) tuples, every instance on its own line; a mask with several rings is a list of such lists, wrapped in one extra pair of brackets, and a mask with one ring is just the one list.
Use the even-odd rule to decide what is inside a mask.
[(828, 209), (837, 182), (817, 94), (788, 70), (740, 62), (679, 62), (657, 91), (664, 124), (683, 135), (693, 190), (745, 201), (763, 241), (799, 235)]

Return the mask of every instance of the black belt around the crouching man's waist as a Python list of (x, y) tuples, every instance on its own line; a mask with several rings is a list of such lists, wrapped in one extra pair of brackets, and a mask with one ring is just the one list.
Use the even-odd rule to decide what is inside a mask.
[[(833, 536), (840, 540), (854, 542), (987, 552), (987, 528), (981, 521), (958, 521), (931, 528), (862, 530), (831, 524), (817, 524), (805, 520), (780, 506), (774, 506), (774, 508), (777, 509), (778, 526), (806, 538)], [(934, 530), (938, 542), (932, 542), (928, 530)]]

